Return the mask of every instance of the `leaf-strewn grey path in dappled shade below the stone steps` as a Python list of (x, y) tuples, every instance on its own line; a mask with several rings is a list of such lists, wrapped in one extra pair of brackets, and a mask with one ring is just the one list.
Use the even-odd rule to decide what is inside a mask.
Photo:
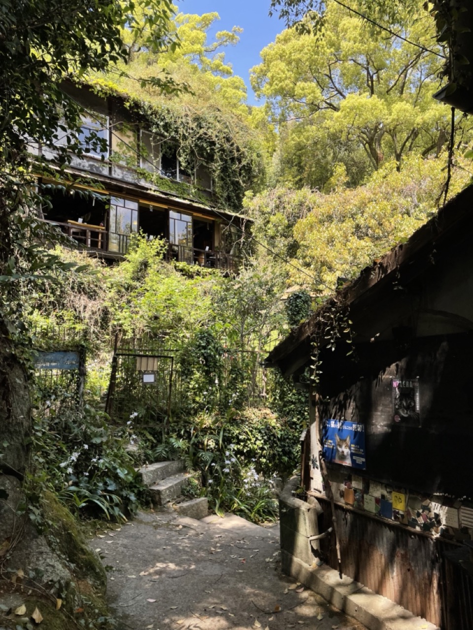
[(108, 599), (124, 630), (365, 630), (281, 575), (277, 527), (205, 521), (140, 513), (91, 541), (112, 567)]

